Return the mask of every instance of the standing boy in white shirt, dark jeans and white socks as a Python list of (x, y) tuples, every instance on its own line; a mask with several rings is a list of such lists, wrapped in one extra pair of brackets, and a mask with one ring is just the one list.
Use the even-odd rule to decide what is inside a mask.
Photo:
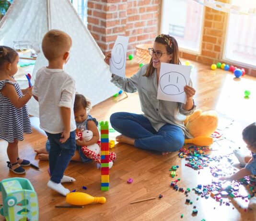
[(51, 178), (47, 186), (64, 196), (70, 190), (61, 183), (75, 180), (63, 176), (76, 150), (75, 81), (63, 70), (69, 60), (71, 46), (72, 39), (67, 33), (50, 30), (45, 34), (42, 49), (48, 66), (37, 71), (33, 88), (34, 97), (39, 102), (40, 128), (46, 132), (51, 146)]

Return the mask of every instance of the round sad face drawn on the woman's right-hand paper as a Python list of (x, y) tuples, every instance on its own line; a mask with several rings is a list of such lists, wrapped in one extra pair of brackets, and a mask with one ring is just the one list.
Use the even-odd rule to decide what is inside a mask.
[[(184, 93), (186, 78), (178, 72), (168, 72), (163, 74), (159, 80), (159, 85), (164, 94), (178, 95)], [(184, 85), (181, 87), (181, 85)]]

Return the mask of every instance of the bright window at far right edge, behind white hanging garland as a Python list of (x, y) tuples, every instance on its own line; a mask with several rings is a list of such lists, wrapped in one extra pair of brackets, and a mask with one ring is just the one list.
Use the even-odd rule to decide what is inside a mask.
[[(250, 0), (244, 0), (243, 4)], [(240, 0), (232, 0), (233, 5), (241, 4)], [(252, 5), (254, 4), (254, 5)], [(250, 8), (256, 3), (250, 3)], [(229, 14), (224, 59), (256, 66), (256, 16)]]

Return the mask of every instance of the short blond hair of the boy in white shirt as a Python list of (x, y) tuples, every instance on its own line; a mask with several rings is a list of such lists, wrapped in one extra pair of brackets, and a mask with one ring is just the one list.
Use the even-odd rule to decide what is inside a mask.
[(71, 46), (72, 39), (70, 35), (56, 29), (47, 32), (42, 42), (43, 53), (48, 61), (53, 61), (64, 55), (70, 51)]

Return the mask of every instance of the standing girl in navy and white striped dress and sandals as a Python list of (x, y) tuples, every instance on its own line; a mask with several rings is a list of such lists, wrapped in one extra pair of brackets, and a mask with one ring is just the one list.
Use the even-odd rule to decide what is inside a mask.
[(23, 140), (23, 133), (32, 133), (25, 105), (32, 97), (32, 88), (21, 90), (14, 80), (18, 62), (15, 50), (0, 46), (0, 139), (8, 142), (9, 169), (24, 174), (22, 166), (29, 166), (30, 162), (19, 158), (18, 143)]

